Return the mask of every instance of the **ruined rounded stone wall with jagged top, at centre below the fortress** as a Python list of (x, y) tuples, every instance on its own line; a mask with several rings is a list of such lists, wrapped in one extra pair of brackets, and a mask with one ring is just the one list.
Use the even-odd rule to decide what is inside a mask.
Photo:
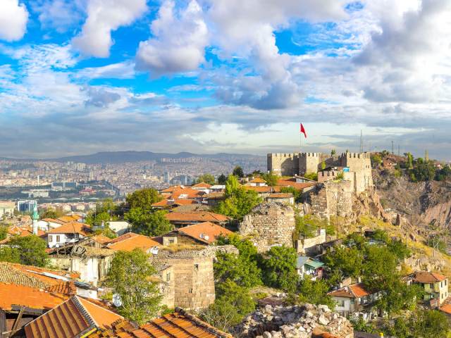
[(250, 237), (259, 252), (268, 251), (275, 245), (292, 247), (294, 230), (295, 212), (290, 206), (277, 202), (256, 206), (239, 226), (240, 234)]

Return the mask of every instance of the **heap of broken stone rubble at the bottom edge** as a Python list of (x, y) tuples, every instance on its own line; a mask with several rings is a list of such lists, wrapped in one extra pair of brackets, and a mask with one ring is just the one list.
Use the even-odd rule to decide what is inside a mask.
[(235, 327), (234, 336), (310, 338), (318, 337), (313, 335), (317, 332), (328, 332), (337, 338), (350, 338), (354, 334), (350, 321), (330, 311), (328, 306), (306, 303), (302, 306), (266, 305), (247, 315), (242, 323)]

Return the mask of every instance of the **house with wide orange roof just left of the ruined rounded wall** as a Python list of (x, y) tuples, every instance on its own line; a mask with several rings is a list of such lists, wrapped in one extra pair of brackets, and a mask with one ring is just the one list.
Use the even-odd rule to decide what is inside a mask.
[(211, 222), (197, 223), (188, 225), (187, 227), (180, 227), (168, 234), (163, 235), (163, 245), (171, 244), (204, 244), (209, 245), (216, 242), (219, 236), (228, 236), (233, 234), (230, 230), (221, 225), (216, 225)]

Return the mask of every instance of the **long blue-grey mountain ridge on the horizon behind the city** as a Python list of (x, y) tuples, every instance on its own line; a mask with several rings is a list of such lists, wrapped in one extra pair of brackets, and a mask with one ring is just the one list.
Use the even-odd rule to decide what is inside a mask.
[(78, 163), (125, 163), (125, 162), (140, 162), (140, 161), (159, 161), (161, 158), (188, 158), (188, 157), (202, 157), (202, 158), (217, 158), (228, 161), (237, 159), (249, 159), (249, 161), (262, 161), (264, 156), (247, 155), (247, 154), (192, 154), (182, 152), (178, 154), (168, 153), (152, 153), (152, 151), (104, 151), (91, 155), (67, 156), (61, 158), (48, 158), (47, 161), (56, 162), (78, 162)]

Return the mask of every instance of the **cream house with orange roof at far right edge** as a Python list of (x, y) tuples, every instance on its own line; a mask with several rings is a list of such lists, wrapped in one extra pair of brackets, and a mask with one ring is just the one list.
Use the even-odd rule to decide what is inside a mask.
[[(448, 296), (448, 279), (438, 273), (416, 271), (404, 278), (407, 284), (418, 284), (424, 290), (424, 301), (440, 306)], [(432, 302), (431, 302), (432, 301)]]

